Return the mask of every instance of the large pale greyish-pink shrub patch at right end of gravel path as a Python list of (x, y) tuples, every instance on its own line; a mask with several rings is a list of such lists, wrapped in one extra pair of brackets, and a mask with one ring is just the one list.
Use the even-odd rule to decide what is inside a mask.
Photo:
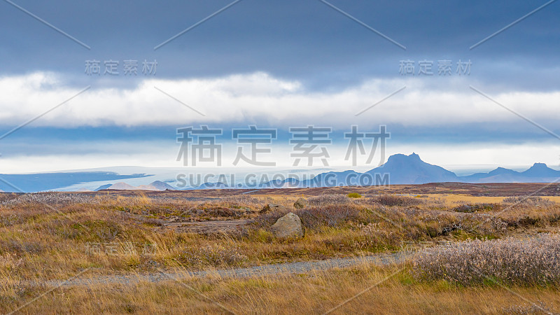
[(463, 285), (560, 285), (560, 237), (463, 241), (428, 248), (413, 260), (417, 277)]

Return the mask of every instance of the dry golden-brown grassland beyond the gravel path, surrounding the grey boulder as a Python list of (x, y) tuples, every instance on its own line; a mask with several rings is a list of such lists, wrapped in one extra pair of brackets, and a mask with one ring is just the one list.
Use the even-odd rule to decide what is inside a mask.
[[(160, 202), (146, 196), (110, 196), (97, 197), (91, 204), (15, 204), (0, 208), (0, 267), (7, 274), (29, 279), (36, 274), (64, 278), (87, 267), (128, 272), (179, 265), (235, 267), (319, 260), (398, 251), (410, 242), (504, 237), (521, 228), (554, 230), (560, 218), (556, 204), (521, 204), (503, 213), (461, 214), (451, 208), (457, 204), (441, 199), (398, 198), (415, 205), (387, 207), (367, 198), (313, 197), (309, 200), (318, 206), (290, 209), (293, 202), (283, 200), (282, 210), (259, 216), (256, 211), (269, 202), (268, 197), (228, 197), (201, 204)], [(321, 200), (338, 204), (324, 204)], [(501, 209), (505, 207), (509, 206)], [(240, 208), (251, 209), (243, 217), (258, 220), (237, 235), (195, 235), (176, 232), (159, 223), (182, 214), (188, 216), (184, 218), (200, 220), (216, 209), (228, 210), (225, 213), (238, 218), (235, 211)], [(197, 214), (192, 209), (204, 211)], [(302, 239), (276, 239), (269, 231), (269, 226), (286, 211), (302, 217)], [(498, 214), (497, 218), (490, 220), (492, 214)], [(155, 247), (144, 253), (146, 246), (153, 244)]]

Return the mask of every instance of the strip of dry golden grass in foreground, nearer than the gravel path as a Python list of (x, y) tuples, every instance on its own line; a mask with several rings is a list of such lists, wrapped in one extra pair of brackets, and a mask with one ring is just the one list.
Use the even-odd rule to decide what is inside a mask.
[[(3, 297), (3, 300), (11, 298), (11, 303), (0, 304), (0, 311), (22, 307), (47, 290), (25, 288), (15, 297)], [(355, 297), (359, 293), (362, 294)], [(346, 300), (349, 301), (341, 305)], [(504, 314), (511, 310), (526, 313), (536, 310), (539, 314), (539, 307), (545, 311), (560, 309), (560, 295), (549, 288), (464, 288), (444, 281), (422, 283), (412, 280), (406, 271), (398, 272), (396, 267), (360, 266), (244, 279), (185, 276), (159, 283), (63, 287), (19, 311), (23, 314), (323, 314), (335, 307), (333, 314)]]

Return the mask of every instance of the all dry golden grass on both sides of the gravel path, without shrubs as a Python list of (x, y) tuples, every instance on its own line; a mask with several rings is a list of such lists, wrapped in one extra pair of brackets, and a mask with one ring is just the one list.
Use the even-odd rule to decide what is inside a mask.
[[(145, 195), (108, 195), (97, 196), (92, 202), (65, 201), (49, 207), (32, 202), (35, 197), (31, 196), (30, 202), (0, 207), (0, 312), (16, 309), (51, 288), (30, 281), (69, 279), (85, 269), (87, 272), (81, 276), (87, 277), (144, 274), (177, 267), (213, 269), (321, 260), (399, 251), (403, 244), (410, 243), (427, 242), (430, 246), (442, 240), (555, 231), (560, 220), (558, 204), (539, 200), (507, 204), (501, 197), (313, 197), (308, 198), (311, 204), (304, 209), (291, 207), (296, 199), (293, 196), (238, 196), (193, 202), (158, 200)], [(267, 203), (282, 207), (258, 214)], [(496, 203), (500, 207), (473, 214), (454, 210), (459, 204), (482, 203)], [(302, 217), (303, 238), (276, 239), (270, 232), (269, 225), (286, 211)], [(169, 218), (255, 218), (255, 223), (232, 235), (195, 235), (166, 228), (161, 222)], [(101, 246), (99, 251), (92, 251), (96, 244)], [(155, 247), (146, 252), (146, 244)], [(391, 268), (361, 266), (250, 279), (211, 276), (187, 279), (183, 284), (169, 280), (58, 288), (21, 311), (226, 312), (214, 303), (217, 301), (240, 314), (321, 313), (384, 279), (398, 267)], [(531, 304), (500, 286), (458, 287), (444, 281), (414, 280), (411, 274), (409, 269), (399, 272), (337, 312), (482, 314), (515, 307), (531, 310)], [(533, 302), (544, 301), (550, 309), (560, 306), (558, 292), (553, 288), (512, 290)]]

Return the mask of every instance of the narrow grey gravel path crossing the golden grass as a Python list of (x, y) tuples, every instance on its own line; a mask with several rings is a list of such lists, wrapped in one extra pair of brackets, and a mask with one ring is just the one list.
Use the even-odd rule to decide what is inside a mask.
[(151, 274), (114, 274), (104, 276), (81, 276), (67, 281), (47, 281), (45, 284), (55, 287), (88, 286), (92, 284), (134, 284), (140, 281), (157, 283), (160, 281), (173, 281), (189, 278), (204, 278), (219, 276), (224, 278), (245, 278), (250, 276), (276, 276), (283, 274), (310, 274), (315, 271), (324, 271), (333, 268), (352, 267), (356, 265), (390, 265), (400, 263), (412, 256), (412, 252), (383, 253), (353, 258), (332, 258), (328, 260), (310, 262), (285, 262), (274, 265), (262, 265), (246, 268), (216, 269), (211, 271), (165, 271)]

